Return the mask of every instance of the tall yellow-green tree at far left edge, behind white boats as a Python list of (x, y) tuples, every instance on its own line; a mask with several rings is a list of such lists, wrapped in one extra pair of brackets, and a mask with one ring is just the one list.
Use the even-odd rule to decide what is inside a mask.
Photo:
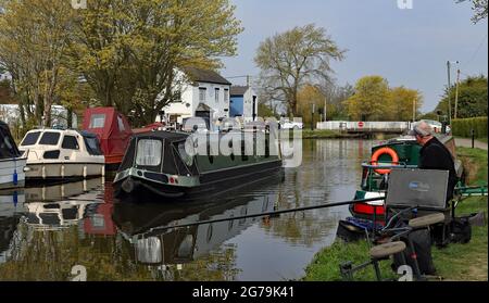
[(72, 20), (73, 9), (67, 1), (2, 1), (0, 64), (12, 76), (24, 125), (25, 114), (36, 124), (50, 125)]

